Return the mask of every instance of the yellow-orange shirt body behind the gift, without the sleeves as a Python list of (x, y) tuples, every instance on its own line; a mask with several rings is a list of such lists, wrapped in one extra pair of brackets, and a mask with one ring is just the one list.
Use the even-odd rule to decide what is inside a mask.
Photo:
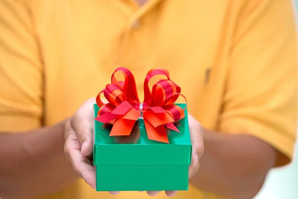
[[(216, 73), (225, 67), (228, 2), (157, 0), (138, 9), (125, 0), (32, 0), (45, 72), (45, 124), (61, 121), (95, 97), (118, 66), (133, 72), (143, 99), (146, 73), (162, 67), (182, 88), (190, 113), (216, 129), (224, 87), (224, 75), (218, 79)], [(218, 105), (211, 106), (208, 100)], [(191, 187), (176, 198), (199, 199), (201, 194)], [(96, 193), (79, 181), (55, 197), (109, 199), (110, 195)], [(145, 199), (146, 194), (121, 193), (117, 199), (138, 198)], [(156, 197), (164, 198), (164, 194)]]

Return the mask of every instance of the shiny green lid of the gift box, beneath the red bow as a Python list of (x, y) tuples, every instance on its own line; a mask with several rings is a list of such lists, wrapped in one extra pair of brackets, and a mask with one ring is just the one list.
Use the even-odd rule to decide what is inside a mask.
[[(184, 108), (186, 104), (177, 104)], [(94, 117), (98, 106), (94, 104)], [(109, 136), (111, 126), (94, 120), (94, 165), (189, 165), (191, 141), (187, 110), (176, 125), (180, 132), (168, 130), (169, 143), (149, 140), (143, 119), (129, 136)]]

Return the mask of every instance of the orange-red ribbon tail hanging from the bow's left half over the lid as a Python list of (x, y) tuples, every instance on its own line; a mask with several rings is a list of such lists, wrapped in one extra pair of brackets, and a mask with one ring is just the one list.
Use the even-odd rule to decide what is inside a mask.
[(112, 127), (110, 136), (130, 135), (136, 120), (117, 119)]

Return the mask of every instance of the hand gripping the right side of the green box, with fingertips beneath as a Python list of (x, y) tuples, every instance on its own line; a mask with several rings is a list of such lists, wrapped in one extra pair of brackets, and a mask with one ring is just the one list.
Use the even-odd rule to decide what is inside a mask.
[[(191, 165), (189, 166), (189, 179), (193, 178), (200, 167), (200, 158), (204, 153), (204, 134), (205, 129), (201, 124), (190, 114), (188, 114), (188, 123), (190, 131), (190, 139), (192, 144)], [(149, 196), (156, 196), (160, 191), (148, 191)], [(175, 196), (177, 191), (165, 191), (168, 197)]]

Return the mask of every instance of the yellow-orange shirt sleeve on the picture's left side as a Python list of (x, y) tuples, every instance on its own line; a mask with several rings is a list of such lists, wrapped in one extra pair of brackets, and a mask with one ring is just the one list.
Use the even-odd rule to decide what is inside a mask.
[(43, 69), (22, 0), (0, 0), (0, 132), (41, 126)]

